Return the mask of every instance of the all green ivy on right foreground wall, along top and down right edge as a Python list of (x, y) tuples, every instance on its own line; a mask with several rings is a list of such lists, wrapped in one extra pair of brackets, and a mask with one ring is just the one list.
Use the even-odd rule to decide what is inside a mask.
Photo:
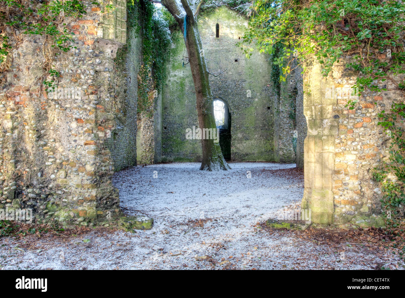
[[(278, 53), (274, 62), (282, 69), (282, 80), (291, 70), (292, 57), (298, 64), (315, 57), (325, 76), (344, 58), (345, 68), (358, 74), (353, 88), (359, 95), (385, 91), (388, 83), (403, 90), (404, 12), (402, 1), (257, 0), (251, 7), (250, 29), (239, 45), (247, 56), (254, 47)], [(354, 109), (356, 103), (350, 100), (346, 107)], [(393, 227), (400, 225), (405, 204), (404, 108), (403, 102), (394, 102), (390, 111), (379, 113), (378, 124), (390, 134), (390, 154), (373, 170), (386, 222)]]

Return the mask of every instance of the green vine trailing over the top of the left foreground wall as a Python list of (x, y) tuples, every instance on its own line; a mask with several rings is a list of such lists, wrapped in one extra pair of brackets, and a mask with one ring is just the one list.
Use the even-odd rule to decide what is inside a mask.
[[(100, 5), (93, 1), (92, 4)], [(113, 6), (104, 6), (105, 13)], [(40, 35), (45, 37), (43, 55), (46, 60), (45, 74), (59, 77), (51, 69), (55, 55), (76, 48), (72, 43), (75, 35), (65, 23), (66, 18), (81, 18), (86, 14), (80, 0), (4, 0), (0, 1), (0, 64), (1, 70), (8, 67), (7, 57), (11, 49), (16, 49), (21, 42), (21, 34)], [(54, 81), (43, 82), (52, 87)]]

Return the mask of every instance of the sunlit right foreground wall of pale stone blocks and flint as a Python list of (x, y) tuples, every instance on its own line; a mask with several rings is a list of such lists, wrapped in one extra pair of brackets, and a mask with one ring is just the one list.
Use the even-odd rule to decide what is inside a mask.
[[(389, 156), (389, 137), (378, 126), (378, 114), (401, 101), (393, 83), (381, 93), (366, 92), (354, 109), (346, 106), (357, 74), (334, 68), (323, 77), (320, 65), (308, 63), (304, 76), (305, 190), (302, 208), (315, 223), (382, 225), (381, 191), (372, 179)], [(349, 93), (350, 92), (350, 93)]]

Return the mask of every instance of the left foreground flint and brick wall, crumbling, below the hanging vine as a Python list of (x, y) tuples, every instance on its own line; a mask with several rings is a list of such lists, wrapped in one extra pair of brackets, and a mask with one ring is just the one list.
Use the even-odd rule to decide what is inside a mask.
[(41, 36), (21, 36), (1, 74), (0, 207), (33, 209), (39, 223), (92, 225), (119, 213), (106, 140), (117, 128), (114, 59), (126, 42), (126, 2), (110, 15), (85, 5), (83, 19), (66, 20), (77, 48), (52, 62), (57, 87), (79, 88), (78, 98), (47, 96)]

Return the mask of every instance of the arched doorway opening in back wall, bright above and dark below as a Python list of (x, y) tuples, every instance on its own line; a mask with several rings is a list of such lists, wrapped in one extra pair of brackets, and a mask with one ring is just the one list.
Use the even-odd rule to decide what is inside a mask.
[(231, 115), (229, 108), (226, 102), (220, 98), (215, 98), (213, 105), (215, 124), (217, 126), (218, 133), (220, 134), (222, 155), (224, 155), (225, 160), (230, 160)]

